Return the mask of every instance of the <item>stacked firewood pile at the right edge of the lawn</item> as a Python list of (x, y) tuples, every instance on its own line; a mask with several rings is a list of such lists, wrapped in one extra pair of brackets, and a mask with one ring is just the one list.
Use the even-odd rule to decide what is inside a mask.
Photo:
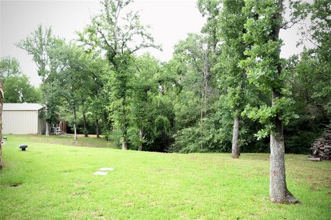
[(315, 140), (310, 149), (312, 149), (312, 154), (309, 156), (309, 160), (331, 159), (331, 131), (325, 131), (324, 136)]

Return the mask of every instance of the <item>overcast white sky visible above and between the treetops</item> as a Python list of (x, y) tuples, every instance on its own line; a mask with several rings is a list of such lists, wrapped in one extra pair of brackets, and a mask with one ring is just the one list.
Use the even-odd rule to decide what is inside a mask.
[[(90, 22), (90, 14), (100, 9), (93, 1), (3, 1), (0, 0), (0, 57), (12, 56), (19, 60), (23, 73), (32, 85), (39, 85), (36, 66), (32, 57), (14, 44), (26, 38), (37, 25), (52, 26), (53, 33), (67, 40), (75, 39), (75, 31)], [(132, 10), (141, 11), (141, 21), (152, 27), (155, 43), (163, 52), (150, 49), (161, 61), (168, 61), (174, 45), (190, 32), (200, 32), (205, 19), (197, 9), (196, 0), (135, 0)], [(285, 46), (282, 56), (288, 57), (301, 51), (296, 47), (298, 27), (282, 31)]]

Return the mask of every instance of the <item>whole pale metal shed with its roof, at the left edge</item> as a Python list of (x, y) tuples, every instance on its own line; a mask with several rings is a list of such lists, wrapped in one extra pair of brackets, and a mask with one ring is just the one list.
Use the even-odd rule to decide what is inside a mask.
[(39, 112), (43, 108), (36, 103), (3, 103), (2, 133), (45, 133), (46, 122), (39, 118)]

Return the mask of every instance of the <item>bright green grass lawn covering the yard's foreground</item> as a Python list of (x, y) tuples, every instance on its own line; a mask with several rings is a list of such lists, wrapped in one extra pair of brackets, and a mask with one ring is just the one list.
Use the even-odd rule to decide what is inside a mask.
[[(74, 144), (68, 138), (8, 135), (0, 219), (331, 217), (330, 162), (286, 155), (288, 188), (301, 203), (284, 205), (268, 199), (268, 154), (231, 159), (228, 153), (121, 151), (95, 137)], [(28, 144), (25, 152), (18, 148), (22, 143)], [(68, 146), (77, 143), (99, 148)], [(93, 175), (101, 167), (114, 170)]]

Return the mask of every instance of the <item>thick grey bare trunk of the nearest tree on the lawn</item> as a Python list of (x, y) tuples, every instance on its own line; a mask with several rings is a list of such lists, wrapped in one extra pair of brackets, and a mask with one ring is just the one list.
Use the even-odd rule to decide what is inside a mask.
[[(273, 92), (272, 106), (280, 97), (279, 92)], [(283, 122), (278, 115), (274, 118), (274, 126), (275, 131), (270, 134), (270, 199), (275, 203), (298, 203), (286, 186)]]

